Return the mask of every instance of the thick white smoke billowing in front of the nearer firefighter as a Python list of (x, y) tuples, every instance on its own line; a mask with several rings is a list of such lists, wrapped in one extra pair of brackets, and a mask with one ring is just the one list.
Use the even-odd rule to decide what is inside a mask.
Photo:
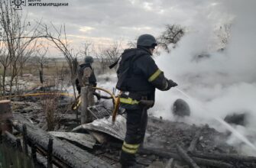
[[(256, 2), (253, 0), (223, 1), (216, 5), (215, 11), (209, 11), (209, 15), (203, 12), (203, 15), (196, 16), (199, 19), (195, 18), (195, 22), (191, 23), (193, 31), (180, 40), (178, 47), (171, 53), (162, 52), (156, 58), (157, 65), (164, 71), (165, 76), (176, 81), (178, 88), (192, 98), (187, 98), (176, 89), (157, 91), (156, 105), (151, 109), (154, 115), (173, 120), (171, 105), (181, 98), (192, 109), (192, 116), (186, 118), (186, 122), (210, 123), (212, 127), (223, 131), (225, 127), (213, 121), (212, 116), (225, 118), (232, 113), (247, 113), (250, 116), (248, 123), (245, 127), (239, 126), (236, 129), (245, 136), (256, 137), (255, 6)], [(215, 24), (223, 22), (223, 18), (212, 16), (221, 15), (234, 18), (231, 39), (224, 51), (209, 53), (209, 46), (214, 44), (212, 32)], [(197, 22), (199, 20), (200, 24)], [(205, 53), (209, 53), (209, 57), (196, 58)], [(228, 143), (238, 144), (241, 141), (231, 137)], [(256, 141), (253, 143), (256, 144)], [(249, 151), (246, 146), (242, 146), (241, 151), (256, 155), (255, 151)]]

